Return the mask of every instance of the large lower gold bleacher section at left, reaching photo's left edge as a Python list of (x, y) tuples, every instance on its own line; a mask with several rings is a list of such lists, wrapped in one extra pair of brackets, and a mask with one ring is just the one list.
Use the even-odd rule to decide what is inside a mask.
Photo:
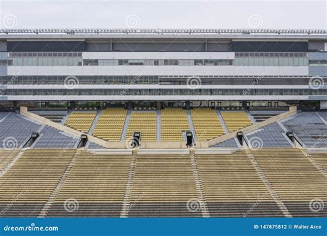
[(25, 150), (14, 166), (0, 178), (1, 215), (37, 217), (75, 152)]

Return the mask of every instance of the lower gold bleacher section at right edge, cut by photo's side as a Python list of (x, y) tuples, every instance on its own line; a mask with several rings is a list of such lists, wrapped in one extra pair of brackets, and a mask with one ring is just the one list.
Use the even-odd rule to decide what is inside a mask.
[(327, 208), (310, 210), (310, 201), (327, 201), (326, 177), (296, 148), (252, 150), (281, 201), (293, 217), (326, 217)]

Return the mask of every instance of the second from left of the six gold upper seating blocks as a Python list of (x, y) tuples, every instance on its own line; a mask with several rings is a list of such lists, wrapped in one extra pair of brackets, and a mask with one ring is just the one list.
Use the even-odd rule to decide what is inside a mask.
[(127, 110), (108, 108), (103, 110), (92, 135), (107, 141), (121, 141), (121, 133), (125, 124)]

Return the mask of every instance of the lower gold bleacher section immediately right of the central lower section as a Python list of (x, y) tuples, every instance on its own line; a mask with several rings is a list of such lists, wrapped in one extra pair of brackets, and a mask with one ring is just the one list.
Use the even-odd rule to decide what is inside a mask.
[(244, 151), (196, 159), (210, 217), (283, 216)]

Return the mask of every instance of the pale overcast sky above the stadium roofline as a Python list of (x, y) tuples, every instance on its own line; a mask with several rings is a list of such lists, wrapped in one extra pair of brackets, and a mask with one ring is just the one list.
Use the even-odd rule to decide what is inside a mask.
[(0, 0), (0, 28), (315, 28), (326, 1)]

